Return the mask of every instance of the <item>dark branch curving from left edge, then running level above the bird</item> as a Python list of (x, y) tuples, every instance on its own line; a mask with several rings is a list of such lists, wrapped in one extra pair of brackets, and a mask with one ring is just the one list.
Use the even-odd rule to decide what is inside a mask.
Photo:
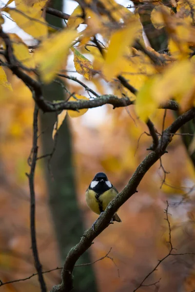
[[(91, 108), (97, 108), (97, 107), (103, 106), (105, 104), (111, 104), (113, 105), (114, 108), (119, 108), (119, 107), (127, 107), (129, 105), (134, 104), (134, 102), (131, 101), (128, 97), (118, 98), (116, 95), (113, 95), (113, 94), (101, 95), (101, 96), (98, 96), (98, 98), (93, 99), (93, 100), (71, 101), (71, 102), (62, 101), (59, 103), (51, 103), (43, 98), (40, 83), (34, 80), (33, 78), (31, 78), (28, 74), (21, 71), (20, 65), (16, 64), (15, 62), (16, 58), (13, 54), (10, 38), (7, 34), (5, 34), (2, 31), (2, 29), (0, 29), (0, 37), (2, 37), (6, 45), (5, 57), (8, 63), (10, 64), (10, 70), (18, 78), (20, 78), (26, 84), (26, 86), (28, 86), (28, 88), (33, 92), (33, 98), (35, 102), (37, 103), (39, 109), (41, 109), (43, 112), (52, 112), (52, 111), (58, 111), (58, 110), (60, 111), (60, 110), (91, 109)], [(123, 82), (123, 86), (128, 88), (131, 92), (135, 92), (135, 93), (137, 92), (137, 90), (134, 87), (132, 87), (124, 77), (120, 76), (119, 78), (120, 79), (122, 78), (121, 80)], [(79, 84), (83, 86), (82, 82), (79, 82)], [(88, 87), (86, 88), (84, 86), (84, 88), (92, 92), (92, 90), (89, 89)], [(97, 93), (95, 91), (93, 91), (92, 93), (97, 96)], [(170, 100), (170, 101), (167, 101), (165, 104), (160, 105), (159, 108), (178, 110), (179, 106), (176, 101)]]

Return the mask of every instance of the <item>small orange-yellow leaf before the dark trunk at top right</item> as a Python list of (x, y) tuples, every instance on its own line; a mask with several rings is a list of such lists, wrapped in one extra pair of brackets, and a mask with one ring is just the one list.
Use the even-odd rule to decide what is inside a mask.
[(151, 21), (157, 29), (161, 29), (165, 26), (164, 19), (162, 17), (162, 10), (171, 15), (171, 8), (164, 5), (156, 5), (151, 13)]

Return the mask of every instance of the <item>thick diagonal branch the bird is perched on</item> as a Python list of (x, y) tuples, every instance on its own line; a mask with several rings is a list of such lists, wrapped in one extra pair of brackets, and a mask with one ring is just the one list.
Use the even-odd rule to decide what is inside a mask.
[[(192, 120), (195, 115), (195, 109), (188, 110), (180, 115), (172, 125), (167, 128), (156, 147), (137, 167), (132, 175), (129, 183), (120, 192), (114, 200), (112, 200), (106, 210), (98, 217), (95, 225), (95, 231), (89, 228), (81, 237), (80, 242), (74, 246), (68, 253), (62, 270), (62, 282), (60, 285), (54, 286), (52, 292), (69, 292), (73, 288), (72, 273), (78, 258), (91, 246), (93, 240), (109, 225), (111, 218), (117, 212), (117, 209), (124, 204), (133, 194), (137, 192), (137, 186), (141, 182), (146, 172), (152, 165), (165, 153), (167, 146), (171, 142), (173, 133), (185, 123)], [(171, 134), (172, 133), (172, 134)]]

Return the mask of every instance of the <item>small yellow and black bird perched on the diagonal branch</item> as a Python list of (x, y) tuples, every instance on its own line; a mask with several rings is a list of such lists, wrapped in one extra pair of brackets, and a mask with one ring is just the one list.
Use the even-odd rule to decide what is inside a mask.
[[(98, 172), (85, 193), (87, 206), (96, 214), (101, 214), (117, 194), (117, 189), (108, 180), (105, 173)], [(112, 221), (121, 222), (117, 213), (113, 216)]]

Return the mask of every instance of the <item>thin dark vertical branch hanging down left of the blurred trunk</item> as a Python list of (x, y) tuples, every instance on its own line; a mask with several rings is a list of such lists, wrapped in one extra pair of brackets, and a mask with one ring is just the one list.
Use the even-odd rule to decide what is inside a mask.
[(34, 115), (33, 115), (33, 148), (32, 148), (32, 160), (31, 160), (31, 170), (30, 174), (28, 174), (29, 179), (29, 188), (30, 188), (30, 230), (31, 230), (31, 244), (33, 257), (35, 260), (35, 268), (37, 270), (37, 274), (39, 277), (39, 283), (41, 292), (47, 292), (45, 281), (42, 275), (42, 266), (39, 260), (39, 254), (37, 249), (37, 239), (36, 239), (36, 227), (35, 227), (35, 188), (34, 188), (34, 180), (35, 180), (35, 168), (37, 161), (37, 139), (38, 139), (38, 107), (35, 105)]

